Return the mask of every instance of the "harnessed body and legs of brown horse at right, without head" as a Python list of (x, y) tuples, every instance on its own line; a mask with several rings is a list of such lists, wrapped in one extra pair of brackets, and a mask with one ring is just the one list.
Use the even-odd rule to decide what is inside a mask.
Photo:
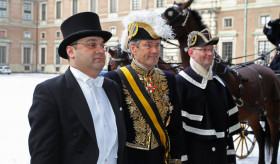
[[(214, 71), (225, 81), (235, 97), (240, 112), (239, 120), (248, 120), (253, 129), (259, 145), (259, 163), (265, 163), (264, 137), (270, 134), (271, 163), (275, 164), (279, 146), (280, 80), (268, 67), (245, 63), (231, 68), (229, 64), (218, 59)], [(268, 123), (265, 131), (270, 133), (264, 132), (261, 120)]]

